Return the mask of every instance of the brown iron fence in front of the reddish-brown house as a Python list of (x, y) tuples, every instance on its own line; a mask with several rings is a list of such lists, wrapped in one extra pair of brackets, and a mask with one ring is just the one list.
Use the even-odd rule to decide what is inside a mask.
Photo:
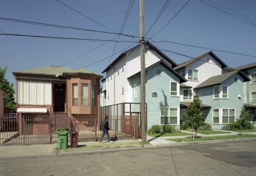
[[(78, 142), (99, 141), (104, 116), (97, 115), (22, 115), (1, 118), (0, 145), (17, 143), (55, 143), (56, 129), (68, 127), (78, 132)], [(67, 124), (68, 123), (68, 124)], [(138, 139), (137, 116), (109, 116), (111, 140)], [(69, 139), (69, 138), (68, 138)], [(106, 136), (104, 136), (104, 140)]]

